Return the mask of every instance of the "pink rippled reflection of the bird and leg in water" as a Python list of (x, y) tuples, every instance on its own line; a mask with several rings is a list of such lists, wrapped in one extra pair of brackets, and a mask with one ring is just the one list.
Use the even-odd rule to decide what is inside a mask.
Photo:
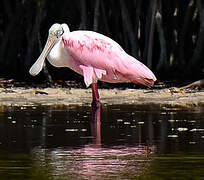
[[(79, 146), (70, 146), (68, 143), (71, 136), (69, 136), (67, 146), (60, 147), (58, 145), (55, 148), (38, 146), (32, 151), (35, 166), (39, 170), (48, 168), (46, 172), (51, 177), (62, 175), (73, 179), (117, 177), (118, 174), (126, 174), (126, 172), (137, 177), (146, 172), (148, 170), (147, 164), (150, 163), (151, 159), (146, 156), (146, 146), (113, 146), (102, 143), (101, 109), (102, 104), (99, 101), (93, 101), (91, 115), (87, 118), (90, 122), (91, 142), (86, 141), (86, 143)], [(56, 129), (57, 127), (54, 126), (53, 128)], [(59, 137), (59, 135), (60, 133), (56, 136)], [(88, 138), (90, 137), (89, 135)], [(76, 144), (77, 142), (75, 141)]]

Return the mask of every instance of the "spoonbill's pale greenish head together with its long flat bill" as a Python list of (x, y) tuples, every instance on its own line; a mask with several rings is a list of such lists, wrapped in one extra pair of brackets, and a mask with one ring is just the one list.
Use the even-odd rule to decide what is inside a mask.
[(49, 34), (45, 47), (37, 61), (32, 65), (29, 70), (29, 73), (32, 76), (36, 76), (42, 70), (45, 58), (47, 57), (53, 46), (62, 39), (63, 34), (66, 32), (70, 32), (67, 24), (56, 23), (51, 26), (51, 28), (49, 29)]

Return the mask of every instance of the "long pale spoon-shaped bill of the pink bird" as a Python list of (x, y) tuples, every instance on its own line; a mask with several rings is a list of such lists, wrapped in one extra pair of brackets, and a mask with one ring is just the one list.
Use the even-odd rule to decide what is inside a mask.
[(48, 40), (47, 40), (47, 42), (45, 44), (45, 47), (44, 47), (41, 55), (39, 56), (37, 61), (32, 65), (32, 67), (29, 70), (29, 73), (32, 76), (36, 76), (42, 70), (45, 58), (47, 57), (48, 53), (50, 52), (52, 47), (55, 45), (55, 43), (56, 43), (55, 38), (53, 38), (51, 36), (48, 37)]

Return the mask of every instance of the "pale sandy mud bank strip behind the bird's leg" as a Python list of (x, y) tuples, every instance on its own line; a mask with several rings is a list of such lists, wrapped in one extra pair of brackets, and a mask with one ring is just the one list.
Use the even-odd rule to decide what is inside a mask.
[[(204, 92), (172, 93), (169, 89), (100, 89), (103, 104), (156, 105), (159, 107), (198, 107), (204, 105)], [(0, 88), (0, 105), (90, 105), (91, 89)]]

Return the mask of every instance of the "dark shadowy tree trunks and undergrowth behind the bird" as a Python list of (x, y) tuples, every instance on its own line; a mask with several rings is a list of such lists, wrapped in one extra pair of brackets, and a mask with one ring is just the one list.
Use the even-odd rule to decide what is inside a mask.
[[(111, 37), (160, 80), (203, 78), (202, 0), (2, 0), (0, 78), (46, 80), (45, 71), (28, 71), (56, 22)], [(54, 80), (83, 80), (68, 68), (47, 69)]]

